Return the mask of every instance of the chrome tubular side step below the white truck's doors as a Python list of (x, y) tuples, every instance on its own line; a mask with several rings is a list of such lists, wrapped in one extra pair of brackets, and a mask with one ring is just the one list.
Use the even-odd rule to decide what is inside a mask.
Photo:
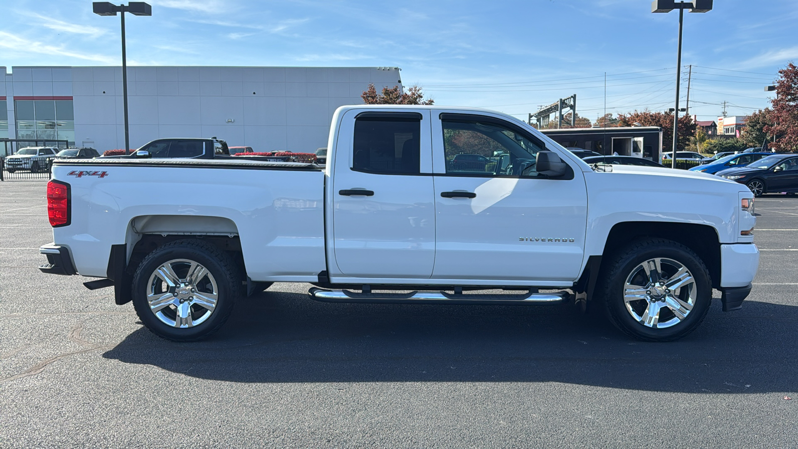
[(475, 295), (448, 292), (358, 293), (348, 290), (310, 288), (310, 298), (326, 303), (365, 304), (476, 304), (476, 305), (545, 305), (563, 304), (569, 292), (533, 293), (522, 295)]

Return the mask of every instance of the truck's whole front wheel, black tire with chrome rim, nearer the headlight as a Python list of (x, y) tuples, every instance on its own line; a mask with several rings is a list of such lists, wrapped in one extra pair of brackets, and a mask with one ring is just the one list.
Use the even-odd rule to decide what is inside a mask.
[[(658, 278), (662, 276), (662, 284), (665, 285), (656, 284), (654, 287), (649, 287), (651, 290), (646, 290), (646, 287), (640, 288), (642, 296), (645, 295), (646, 299), (631, 300), (627, 308), (626, 281), (631, 279), (632, 285), (650, 282), (645, 277), (646, 273), (640, 270), (645, 270), (642, 264), (656, 259), (661, 259), (662, 275), (658, 275)], [(675, 288), (671, 294), (670, 289), (665, 290), (666, 284), (676, 285), (674, 274), (679, 264), (687, 270), (687, 275), (691, 275), (693, 283)], [(601, 296), (599, 300), (602, 301), (610, 322), (626, 335), (646, 341), (674, 341), (687, 336), (704, 320), (712, 302), (712, 281), (704, 262), (684, 245), (661, 238), (638, 240), (610, 256), (606, 260), (606, 268), (602, 269), (602, 274), (599, 276), (596, 291)], [(666, 295), (665, 292), (669, 293)], [(653, 296), (650, 296), (650, 293), (653, 293)], [(678, 300), (674, 296), (678, 296)], [(692, 302), (692, 308), (680, 318), (670, 304), (685, 304), (681, 302), (685, 299), (688, 305)], [(682, 308), (684, 307), (686, 306), (682, 305)], [(667, 320), (654, 322), (654, 327), (643, 324), (649, 310), (654, 309), (662, 311), (656, 314), (658, 319), (662, 315)], [(633, 313), (637, 315), (633, 316)], [(637, 316), (642, 316), (643, 320), (638, 320)]]

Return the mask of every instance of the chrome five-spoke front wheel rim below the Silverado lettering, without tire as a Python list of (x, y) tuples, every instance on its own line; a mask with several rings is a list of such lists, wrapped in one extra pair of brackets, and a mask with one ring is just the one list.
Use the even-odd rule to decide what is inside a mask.
[(658, 257), (638, 264), (626, 277), (626, 312), (648, 328), (670, 328), (693, 310), (697, 298), (693, 273), (673, 259)]

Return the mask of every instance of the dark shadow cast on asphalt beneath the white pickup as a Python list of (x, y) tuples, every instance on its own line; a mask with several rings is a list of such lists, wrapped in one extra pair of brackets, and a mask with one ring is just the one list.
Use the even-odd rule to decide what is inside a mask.
[(559, 382), (645, 391), (793, 391), (798, 307), (746, 301), (674, 343), (630, 340), (572, 306), (321, 304), (266, 292), (189, 344), (140, 328), (103, 355), (243, 383)]

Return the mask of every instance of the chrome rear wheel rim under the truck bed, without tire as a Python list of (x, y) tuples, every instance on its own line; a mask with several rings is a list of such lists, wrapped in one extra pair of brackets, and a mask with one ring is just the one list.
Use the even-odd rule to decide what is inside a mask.
[(213, 275), (194, 260), (173, 259), (161, 264), (147, 285), (150, 311), (174, 328), (202, 324), (211, 317), (219, 300)]

